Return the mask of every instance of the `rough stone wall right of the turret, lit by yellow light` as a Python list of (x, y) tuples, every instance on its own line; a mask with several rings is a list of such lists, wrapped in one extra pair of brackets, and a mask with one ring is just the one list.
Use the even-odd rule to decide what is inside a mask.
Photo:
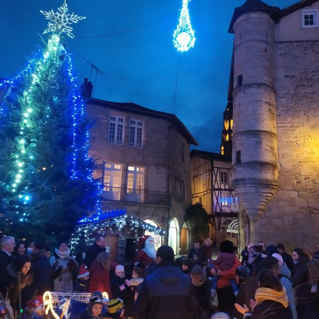
[(256, 227), (267, 243), (313, 251), (319, 240), (319, 41), (276, 43), (275, 61), (279, 189)]

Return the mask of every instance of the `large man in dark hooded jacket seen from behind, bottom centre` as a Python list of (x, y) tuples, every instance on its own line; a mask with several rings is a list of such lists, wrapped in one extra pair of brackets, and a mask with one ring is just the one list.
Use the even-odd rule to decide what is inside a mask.
[(189, 276), (174, 263), (169, 246), (157, 251), (157, 266), (141, 284), (134, 305), (137, 319), (191, 319), (197, 311)]

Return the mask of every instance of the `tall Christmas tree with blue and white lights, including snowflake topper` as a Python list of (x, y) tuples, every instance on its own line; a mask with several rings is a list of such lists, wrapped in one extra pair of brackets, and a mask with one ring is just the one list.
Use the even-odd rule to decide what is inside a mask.
[[(41, 11), (45, 47), (0, 94), (0, 231), (16, 238), (69, 239), (80, 216), (99, 210), (88, 158), (89, 125), (62, 34), (84, 17)], [(0, 82), (1, 85), (1, 82)]]

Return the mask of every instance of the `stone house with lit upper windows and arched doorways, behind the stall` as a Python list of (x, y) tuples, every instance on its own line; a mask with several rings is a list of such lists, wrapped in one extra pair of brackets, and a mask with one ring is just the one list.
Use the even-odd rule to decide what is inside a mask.
[(189, 146), (197, 142), (173, 114), (93, 99), (87, 79), (82, 90), (87, 113), (96, 119), (89, 155), (97, 160), (94, 175), (103, 183), (103, 208), (126, 208), (128, 215), (166, 230), (165, 238), (157, 238), (158, 245), (167, 242), (175, 254), (187, 251)]

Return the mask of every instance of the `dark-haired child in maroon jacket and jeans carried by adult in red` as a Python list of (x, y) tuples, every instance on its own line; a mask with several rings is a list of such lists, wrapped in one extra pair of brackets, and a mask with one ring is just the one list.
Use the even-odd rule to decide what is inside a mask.
[[(218, 255), (216, 260), (208, 260), (208, 265), (211, 268), (219, 269), (221, 271), (230, 270), (233, 268), (235, 263), (235, 254), (234, 254), (234, 244), (229, 241), (225, 240), (220, 245), (220, 254)], [(217, 281), (220, 279), (221, 276), (215, 275), (212, 281), (210, 295), (211, 297), (215, 297), (216, 288), (217, 288)], [(234, 279), (229, 279), (231, 287), (233, 289), (234, 295), (237, 296), (238, 289), (236, 286), (236, 281)]]

